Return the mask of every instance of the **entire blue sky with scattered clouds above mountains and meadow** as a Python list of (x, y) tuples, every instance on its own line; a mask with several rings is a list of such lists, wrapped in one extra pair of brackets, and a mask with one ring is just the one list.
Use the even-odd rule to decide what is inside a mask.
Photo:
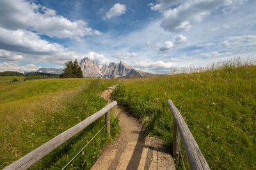
[(255, 0), (0, 0), (0, 71), (89, 57), (148, 73), (256, 58)]

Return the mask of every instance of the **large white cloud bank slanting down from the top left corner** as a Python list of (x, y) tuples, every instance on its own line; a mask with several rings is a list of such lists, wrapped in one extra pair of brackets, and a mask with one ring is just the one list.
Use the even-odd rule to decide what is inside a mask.
[(46, 8), (33, 1), (1, 0), (0, 27), (4, 29), (29, 29), (51, 38), (70, 38), (81, 40), (84, 36), (100, 32), (88, 27), (83, 20), (74, 22), (56, 11)]

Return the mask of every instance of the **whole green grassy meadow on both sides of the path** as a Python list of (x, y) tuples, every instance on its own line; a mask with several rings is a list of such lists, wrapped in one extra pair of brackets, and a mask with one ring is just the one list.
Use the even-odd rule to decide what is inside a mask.
[[(256, 66), (225, 62), (204, 71), (120, 80), (44, 79), (8, 83), (0, 77), (0, 168), (106, 106), (100, 92), (120, 83), (112, 97), (138, 117), (143, 129), (172, 152), (172, 99), (211, 169), (256, 169)], [(104, 118), (58, 147), (32, 169), (61, 169), (104, 125)], [(120, 131), (111, 119), (111, 138)], [(90, 169), (111, 141), (102, 131), (68, 169)], [(186, 168), (188, 160), (183, 146)], [(181, 159), (175, 161), (182, 169)]]

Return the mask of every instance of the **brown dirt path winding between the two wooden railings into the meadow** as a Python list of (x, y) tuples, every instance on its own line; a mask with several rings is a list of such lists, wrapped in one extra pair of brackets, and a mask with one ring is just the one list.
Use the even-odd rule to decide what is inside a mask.
[[(114, 88), (109, 88), (101, 94), (109, 103)], [(114, 108), (113, 116), (120, 117), (122, 132), (113, 141), (113, 145), (104, 148), (102, 155), (93, 165), (93, 170), (175, 169), (170, 153), (164, 152), (163, 142), (143, 134), (136, 118), (129, 117), (118, 106)]]

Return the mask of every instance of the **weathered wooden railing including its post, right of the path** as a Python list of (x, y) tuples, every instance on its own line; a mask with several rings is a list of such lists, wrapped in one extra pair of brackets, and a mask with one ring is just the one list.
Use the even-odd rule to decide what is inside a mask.
[(179, 138), (181, 136), (191, 169), (210, 169), (179, 110), (172, 100), (168, 100), (167, 103), (173, 115), (173, 157), (179, 159)]

